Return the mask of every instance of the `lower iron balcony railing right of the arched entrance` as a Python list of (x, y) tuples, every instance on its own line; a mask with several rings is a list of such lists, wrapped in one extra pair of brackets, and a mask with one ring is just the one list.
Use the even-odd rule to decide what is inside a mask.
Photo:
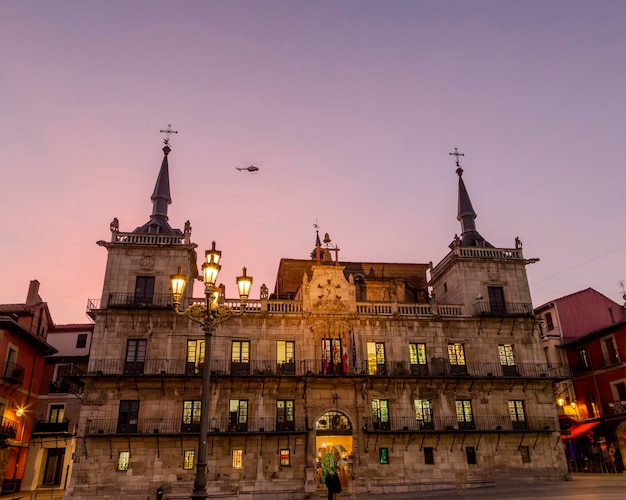
[(417, 420), (415, 416), (391, 417), (385, 421), (364, 418), (364, 432), (481, 431), (481, 432), (554, 432), (559, 430), (556, 417), (529, 417), (511, 420), (508, 416), (474, 415), (464, 421), (454, 416), (433, 416)]

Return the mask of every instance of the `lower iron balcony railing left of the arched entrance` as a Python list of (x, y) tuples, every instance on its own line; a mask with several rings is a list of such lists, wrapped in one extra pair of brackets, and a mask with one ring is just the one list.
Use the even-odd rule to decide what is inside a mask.
[[(229, 418), (209, 419), (209, 434), (222, 433), (262, 433), (262, 432), (306, 432), (310, 430), (307, 419), (296, 417), (291, 421), (276, 418)], [(125, 419), (90, 419), (85, 428), (86, 436), (112, 434), (198, 434), (199, 422), (190, 422), (182, 418), (140, 418), (127, 421)]]

